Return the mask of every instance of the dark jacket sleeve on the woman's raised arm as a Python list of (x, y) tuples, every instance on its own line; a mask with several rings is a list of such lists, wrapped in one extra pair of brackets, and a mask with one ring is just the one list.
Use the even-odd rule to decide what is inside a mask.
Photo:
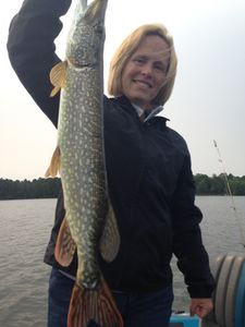
[(10, 62), (20, 81), (44, 113), (57, 126), (59, 94), (50, 97), (51, 68), (60, 61), (54, 39), (71, 0), (25, 0), (13, 17), (8, 38)]

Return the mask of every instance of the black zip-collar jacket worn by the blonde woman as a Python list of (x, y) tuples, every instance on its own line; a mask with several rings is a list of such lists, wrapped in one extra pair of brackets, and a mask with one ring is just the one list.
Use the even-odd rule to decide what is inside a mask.
[[(49, 72), (59, 62), (53, 40), (70, 0), (26, 0), (10, 26), (11, 63), (39, 108), (57, 126), (59, 96), (50, 98)], [(142, 123), (125, 97), (105, 96), (105, 150), (110, 198), (118, 218), (121, 247), (107, 264), (109, 286), (117, 290), (154, 291), (172, 282), (172, 253), (193, 298), (213, 290), (203, 246), (200, 210), (185, 141), (161, 117)], [(58, 266), (53, 249), (64, 217), (62, 193), (45, 262)], [(64, 269), (75, 275), (76, 259)]]

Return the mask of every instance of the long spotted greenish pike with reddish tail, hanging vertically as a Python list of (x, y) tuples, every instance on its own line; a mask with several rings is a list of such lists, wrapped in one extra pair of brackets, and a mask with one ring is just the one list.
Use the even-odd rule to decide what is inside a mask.
[(61, 175), (65, 217), (56, 259), (69, 266), (77, 254), (77, 274), (70, 302), (68, 327), (122, 327), (98, 264), (118, 254), (120, 235), (107, 192), (103, 150), (103, 44), (108, 0), (78, 0), (70, 28), (65, 61), (50, 72), (61, 89), (58, 147), (47, 175)]

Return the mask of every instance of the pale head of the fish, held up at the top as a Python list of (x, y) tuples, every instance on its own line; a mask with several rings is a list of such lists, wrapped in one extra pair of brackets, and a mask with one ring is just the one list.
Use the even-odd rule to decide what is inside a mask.
[(78, 0), (66, 44), (66, 59), (76, 68), (97, 66), (105, 43), (105, 15), (108, 0), (86, 5)]

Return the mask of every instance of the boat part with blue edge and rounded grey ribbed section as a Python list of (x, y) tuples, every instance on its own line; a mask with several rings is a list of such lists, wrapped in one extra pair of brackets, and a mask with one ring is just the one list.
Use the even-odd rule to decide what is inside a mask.
[(245, 327), (245, 255), (220, 255), (213, 276), (213, 311), (204, 319), (173, 313), (170, 327)]

